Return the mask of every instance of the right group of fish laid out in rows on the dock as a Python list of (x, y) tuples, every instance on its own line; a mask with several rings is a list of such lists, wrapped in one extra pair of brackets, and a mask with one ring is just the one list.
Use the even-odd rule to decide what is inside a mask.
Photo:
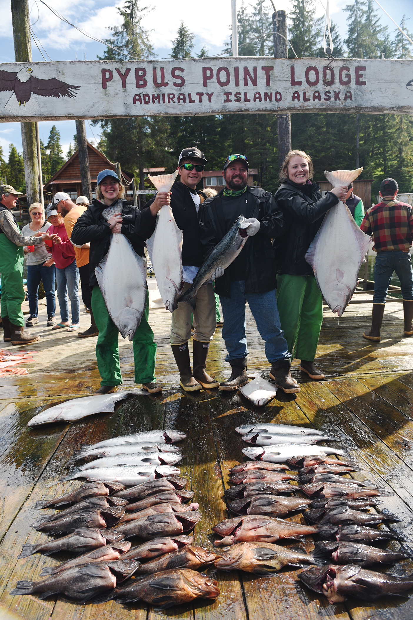
[[(215, 568), (268, 575), (285, 566), (313, 564), (316, 566), (303, 570), (300, 579), (333, 603), (345, 600), (347, 594), (375, 600), (413, 588), (410, 576), (360, 572), (363, 567), (409, 559), (413, 550), (406, 545), (398, 550), (373, 546), (375, 542), (404, 539), (394, 527), (374, 527), (399, 521), (388, 510), (378, 512), (376, 508), (382, 503), (376, 498), (391, 492), (374, 487), (370, 480), (346, 477), (359, 472), (359, 467), (326, 456), (344, 457), (342, 450), (310, 445), (331, 438), (311, 428), (273, 423), (236, 430), (243, 440), (256, 444), (242, 450), (254, 460), (230, 469), (228, 482), (232, 486), (225, 490), (225, 498), (228, 511), (236, 516), (212, 527), (220, 536), (214, 541), (215, 547), (224, 547)], [(277, 443), (271, 445), (274, 438)], [(306, 497), (293, 495), (300, 492)], [(307, 525), (284, 520), (297, 512), (302, 513)], [(308, 535), (318, 540), (311, 554), (276, 544), (280, 539), (301, 541)], [(364, 597), (364, 592), (368, 596)]]

